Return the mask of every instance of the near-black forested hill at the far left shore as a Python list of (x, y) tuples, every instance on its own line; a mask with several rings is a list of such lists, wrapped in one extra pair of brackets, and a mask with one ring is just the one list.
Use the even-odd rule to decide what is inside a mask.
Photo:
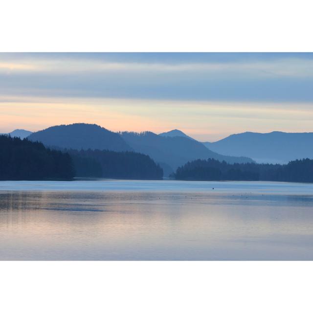
[(46, 149), (42, 143), (0, 135), (0, 180), (72, 179), (67, 153)]

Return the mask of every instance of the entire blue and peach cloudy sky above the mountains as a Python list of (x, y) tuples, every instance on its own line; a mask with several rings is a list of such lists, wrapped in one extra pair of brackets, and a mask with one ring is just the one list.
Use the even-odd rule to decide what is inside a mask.
[(0, 133), (313, 132), (313, 53), (0, 53)]

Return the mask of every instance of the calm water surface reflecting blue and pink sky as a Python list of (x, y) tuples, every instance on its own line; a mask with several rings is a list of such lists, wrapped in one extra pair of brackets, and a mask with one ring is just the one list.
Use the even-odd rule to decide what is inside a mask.
[(313, 260), (313, 184), (0, 181), (0, 260)]

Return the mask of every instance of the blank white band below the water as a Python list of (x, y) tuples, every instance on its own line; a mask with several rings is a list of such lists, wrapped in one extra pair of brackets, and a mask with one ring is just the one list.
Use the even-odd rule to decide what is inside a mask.
[(312, 312), (311, 262), (2, 262), (5, 313)]

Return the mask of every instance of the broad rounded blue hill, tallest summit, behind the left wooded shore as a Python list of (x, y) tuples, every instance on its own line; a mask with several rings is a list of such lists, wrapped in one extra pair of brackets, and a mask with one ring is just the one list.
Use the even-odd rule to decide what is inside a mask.
[(77, 123), (53, 126), (29, 135), (28, 139), (40, 141), (45, 146), (67, 149), (133, 151), (119, 134), (96, 124)]

